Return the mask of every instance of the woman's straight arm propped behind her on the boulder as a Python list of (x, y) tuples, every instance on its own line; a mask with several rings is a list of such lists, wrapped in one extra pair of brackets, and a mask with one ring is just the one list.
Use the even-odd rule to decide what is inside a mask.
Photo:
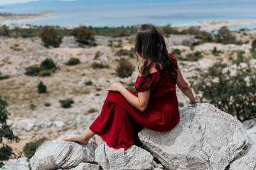
[(193, 96), (193, 92), (191, 91), (188, 83), (183, 79), (181, 70), (178, 67), (178, 76), (177, 76), (177, 85), (178, 89), (180, 89), (183, 94), (185, 94), (189, 98), (189, 103), (198, 103), (198, 100)]

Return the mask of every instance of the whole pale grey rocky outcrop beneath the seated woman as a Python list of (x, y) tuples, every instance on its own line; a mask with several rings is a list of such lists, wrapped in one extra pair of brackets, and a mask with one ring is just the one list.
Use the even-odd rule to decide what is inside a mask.
[(139, 132), (142, 148), (134, 145), (127, 150), (113, 149), (104, 140), (97, 146), (94, 138), (82, 145), (63, 141), (62, 135), (38, 147), (30, 162), (26, 157), (14, 159), (2, 170), (256, 169), (255, 120), (242, 124), (208, 103), (196, 103), (179, 111), (181, 120), (173, 129), (156, 132), (144, 128)]

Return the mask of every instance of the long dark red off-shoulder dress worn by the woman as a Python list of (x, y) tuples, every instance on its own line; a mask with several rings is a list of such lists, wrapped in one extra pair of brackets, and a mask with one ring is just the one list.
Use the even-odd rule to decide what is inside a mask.
[[(177, 70), (176, 57), (170, 53), (169, 55), (174, 58), (173, 66)], [(169, 85), (164, 83), (159, 72), (151, 74), (152, 83), (149, 86), (149, 76), (146, 76), (143, 86), (139, 85), (142, 77), (138, 76), (135, 89), (151, 89), (149, 104), (144, 112), (132, 106), (119, 92), (109, 91), (102, 111), (90, 130), (102, 137), (109, 147), (126, 150), (131, 145), (139, 146), (138, 132), (144, 127), (159, 132), (174, 128), (180, 120), (176, 96), (177, 71), (174, 71), (174, 76), (168, 72), (163, 74)], [(129, 92), (137, 96), (134, 92)]]

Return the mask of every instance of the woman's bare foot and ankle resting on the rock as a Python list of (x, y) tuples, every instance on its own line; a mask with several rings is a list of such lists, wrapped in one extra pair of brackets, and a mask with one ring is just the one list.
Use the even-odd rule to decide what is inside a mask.
[(63, 137), (63, 140), (77, 141), (82, 144), (87, 144), (91, 137), (95, 135), (89, 128), (82, 135), (70, 134)]

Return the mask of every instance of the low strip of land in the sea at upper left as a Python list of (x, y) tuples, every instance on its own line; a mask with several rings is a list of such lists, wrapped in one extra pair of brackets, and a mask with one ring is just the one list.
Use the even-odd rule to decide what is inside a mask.
[(42, 11), (38, 13), (0, 13), (0, 23), (15, 23), (23, 20), (32, 20), (37, 18), (48, 18), (50, 14), (56, 14), (55, 11)]

